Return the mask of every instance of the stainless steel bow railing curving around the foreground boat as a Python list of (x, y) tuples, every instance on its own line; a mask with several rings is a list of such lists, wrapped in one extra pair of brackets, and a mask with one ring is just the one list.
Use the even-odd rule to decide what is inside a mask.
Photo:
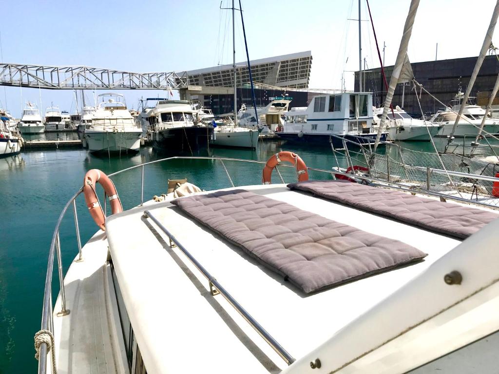
[[(245, 159), (231, 159), (231, 158), (213, 158), (213, 157), (193, 157), (193, 156), (186, 156), (186, 157), (169, 157), (161, 160), (155, 160), (151, 161), (148, 163), (144, 163), (141, 165), (136, 165), (132, 166), (127, 169), (123, 169), (121, 171), (118, 171), (116, 173), (112, 173), (109, 175), (109, 177), (113, 177), (116, 175), (119, 175), (121, 173), (138, 169), (141, 168), (141, 188), (140, 188), (140, 205), (144, 204), (144, 184), (145, 184), (145, 179), (144, 179), (144, 167), (152, 164), (157, 164), (161, 162), (166, 162), (170, 160), (180, 160), (180, 159), (185, 159), (185, 160), (212, 160), (212, 161), (219, 161), (225, 172), (226, 175), (229, 179), (229, 182), (232, 187), (235, 187), (234, 181), (231, 178), (231, 175), (227, 169), (227, 167), (224, 164), (224, 161), (230, 161), (230, 162), (245, 162), (245, 163), (252, 163), (252, 164), (260, 164), (264, 165), (266, 162), (264, 161), (255, 161), (255, 160), (245, 160)], [(279, 164), (279, 167), (288, 167), (288, 168), (295, 168), (295, 165), (287, 165), (287, 164)], [(284, 179), (282, 178), (282, 175), (280, 174), (278, 168), (275, 168), (277, 175), (282, 183), (284, 183)], [(489, 208), (498, 208), (494, 207), (485, 203), (481, 203), (479, 201), (471, 201), (468, 199), (456, 197), (456, 196), (450, 196), (447, 194), (443, 193), (438, 193), (438, 192), (433, 192), (433, 191), (427, 191), (427, 190), (413, 190), (409, 189), (403, 184), (399, 183), (394, 183), (394, 182), (387, 182), (386, 180), (380, 180), (376, 178), (372, 178), (369, 176), (352, 176), (352, 174), (349, 173), (344, 173), (341, 171), (335, 171), (335, 170), (325, 170), (325, 169), (318, 169), (318, 168), (307, 168), (309, 171), (314, 171), (314, 172), (320, 172), (320, 173), (326, 173), (328, 175), (331, 175), (332, 178), (335, 178), (334, 175), (344, 175), (350, 178), (357, 178), (357, 179), (364, 179), (367, 181), (370, 181), (371, 183), (378, 184), (383, 187), (390, 187), (390, 188), (395, 188), (399, 190), (404, 190), (404, 191), (409, 191), (412, 193), (420, 193), (428, 196), (434, 196), (434, 197), (443, 197), (447, 200), (454, 200), (454, 201), (459, 201), (459, 202), (465, 202), (469, 204), (474, 204), (474, 205), (480, 205), (480, 206), (487, 206)], [(435, 173), (451, 173), (448, 171), (443, 171), (439, 169), (431, 169), (432, 172)], [(478, 175), (472, 175), (472, 174), (466, 174), (466, 173), (459, 173), (459, 172), (453, 172), (454, 175), (460, 176), (460, 177), (466, 177), (466, 178), (476, 178), (476, 179), (483, 179), (487, 181), (493, 181), (493, 182), (499, 182), (499, 178), (493, 178), (493, 177), (485, 177), (485, 176), (478, 176)], [(76, 235), (76, 243), (78, 245), (78, 258), (75, 261), (83, 261), (83, 255), (82, 255), (82, 246), (81, 246), (81, 238), (80, 238), (80, 229), (79, 229), (79, 221), (78, 221), (78, 213), (76, 209), (76, 198), (82, 193), (83, 188), (80, 188), (64, 205), (62, 208), (61, 213), (59, 214), (59, 218), (57, 219), (57, 222), (55, 224), (55, 229), (52, 234), (52, 240), (50, 243), (50, 249), (48, 252), (48, 264), (47, 264), (47, 273), (45, 277), (45, 288), (44, 288), (44, 294), (43, 294), (43, 308), (42, 308), (42, 316), (41, 316), (41, 330), (49, 330), (53, 333), (53, 304), (52, 304), (52, 273), (53, 273), (53, 265), (54, 265), (54, 258), (57, 259), (57, 274), (59, 277), (59, 287), (60, 287), (60, 299), (61, 299), (61, 310), (56, 313), (57, 317), (63, 317), (66, 316), (70, 313), (70, 310), (67, 308), (66, 305), (66, 297), (65, 297), (65, 289), (64, 289), (64, 274), (63, 274), (63, 269), (62, 269), (62, 256), (61, 256), (61, 243), (60, 243), (60, 237), (59, 237), (59, 230), (60, 230), (60, 225), (62, 222), (62, 219), (65, 217), (67, 210), (69, 209), (70, 206), (72, 206), (73, 210), (73, 215), (74, 215), (74, 224), (75, 224), (75, 235)], [(104, 202), (106, 199), (104, 199)], [(104, 205), (105, 206), (105, 205)], [(169, 235), (170, 236), (170, 235)], [(171, 237), (171, 236), (170, 236)], [(179, 245), (179, 243), (176, 243)], [(221, 285), (219, 285), (222, 287)], [(223, 288), (223, 287), (222, 287)], [(220, 291), (220, 288), (219, 288)], [(256, 322), (256, 321), (254, 321)], [(256, 325), (254, 325), (256, 326)], [(258, 325), (259, 326), (259, 325)], [(261, 326), (260, 326), (261, 327)], [(263, 330), (263, 329), (262, 329)], [(271, 338), (271, 337), (270, 337)], [(264, 337), (265, 340), (268, 339)], [(268, 340), (267, 340), (268, 342)], [(276, 347), (280, 347), (277, 342)], [(39, 362), (38, 362), (38, 374), (46, 374), (47, 373), (47, 354), (48, 354), (48, 347), (46, 343), (41, 343), (40, 344), (40, 354), (39, 354)], [(275, 349), (275, 348), (274, 348)], [(282, 347), (280, 347), (282, 349)], [(282, 349), (283, 352), (285, 352)], [(287, 352), (279, 353), (281, 357), (288, 363), (294, 361), (294, 359), (287, 354)]]

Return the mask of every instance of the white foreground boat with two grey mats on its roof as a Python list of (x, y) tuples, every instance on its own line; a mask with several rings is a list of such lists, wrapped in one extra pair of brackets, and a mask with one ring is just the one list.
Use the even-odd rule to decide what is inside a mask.
[[(266, 167), (284, 157), (296, 159), (281, 152)], [(141, 169), (149, 176), (179, 164), (174, 157), (133, 166), (116, 179), (119, 196), (137, 204), (125, 212), (107, 177), (90, 171), (88, 211), (105, 217), (92, 190), (98, 180), (115, 214), (73, 249), (64, 273), (55, 258), (68, 263), (61, 254), (78, 248), (79, 234), (59, 235), (62, 220), (74, 210), (76, 233), (91, 229), (78, 225), (91, 222), (77, 219), (82, 189), (66, 203), (48, 252), (39, 374), (496, 371), (497, 210), (305, 174), (289, 186), (230, 187), (240, 184), (225, 165), (256, 181), (264, 162), (188, 159), (161, 178), (184, 178), (190, 166), (200, 173), (205, 162), (213, 173), (207, 191), (172, 180), (180, 187), (146, 201), (138, 177), (142, 188), (128, 195)], [(406, 214), (408, 204), (418, 214)]]

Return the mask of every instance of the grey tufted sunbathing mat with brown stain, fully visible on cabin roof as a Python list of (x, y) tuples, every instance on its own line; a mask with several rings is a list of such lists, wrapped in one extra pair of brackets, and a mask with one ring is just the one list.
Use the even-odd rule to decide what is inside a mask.
[(180, 197), (172, 203), (305, 293), (426, 256), (398, 240), (244, 189)]

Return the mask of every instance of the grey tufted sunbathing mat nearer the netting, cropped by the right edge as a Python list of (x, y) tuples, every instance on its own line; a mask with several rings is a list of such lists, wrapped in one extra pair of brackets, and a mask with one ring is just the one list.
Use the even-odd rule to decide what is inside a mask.
[(459, 239), (499, 218), (499, 214), (487, 210), (348, 181), (306, 181), (287, 187)]

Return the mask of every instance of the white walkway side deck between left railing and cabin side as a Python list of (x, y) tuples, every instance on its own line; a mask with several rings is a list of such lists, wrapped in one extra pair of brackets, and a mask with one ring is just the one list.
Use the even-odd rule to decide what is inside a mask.
[(73, 262), (64, 278), (69, 314), (56, 315), (58, 297), (53, 316), (58, 374), (129, 373), (107, 253), (99, 230), (82, 248), (83, 261)]

